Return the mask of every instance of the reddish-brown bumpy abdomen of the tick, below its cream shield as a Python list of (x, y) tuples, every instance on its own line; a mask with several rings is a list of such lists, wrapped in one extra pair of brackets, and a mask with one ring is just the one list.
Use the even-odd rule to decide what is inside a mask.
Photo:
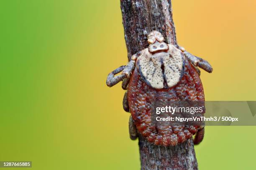
[(139, 133), (155, 145), (174, 146), (183, 143), (197, 132), (198, 126), (161, 126), (151, 123), (151, 113), (156, 107), (168, 106), (171, 101), (204, 101), (200, 77), (195, 68), (185, 60), (182, 80), (174, 87), (156, 90), (142, 80), (135, 68), (128, 87), (128, 103), (134, 123)]

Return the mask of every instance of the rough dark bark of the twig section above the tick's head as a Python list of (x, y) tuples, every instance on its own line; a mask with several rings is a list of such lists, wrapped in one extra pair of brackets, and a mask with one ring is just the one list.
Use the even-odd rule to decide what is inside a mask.
[(128, 59), (148, 47), (152, 30), (162, 33), (168, 44), (176, 45), (171, 0), (120, 0)]

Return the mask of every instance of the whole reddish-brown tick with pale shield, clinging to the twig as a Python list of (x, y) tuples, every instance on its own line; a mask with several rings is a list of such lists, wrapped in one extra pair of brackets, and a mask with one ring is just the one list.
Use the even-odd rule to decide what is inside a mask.
[[(129, 132), (136, 139), (137, 132), (155, 145), (174, 146), (192, 138), (200, 143), (204, 128), (184, 125), (153, 125), (151, 114), (156, 107), (164, 107), (172, 101), (204, 101), (200, 80), (200, 67), (212, 72), (210, 64), (182, 47), (166, 44), (160, 32), (148, 34), (148, 48), (131, 57), (126, 66), (121, 66), (108, 75), (109, 87), (123, 80), (127, 89), (123, 99), (125, 111), (131, 112)], [(115, 74), (121, 72), (118, 76)]]

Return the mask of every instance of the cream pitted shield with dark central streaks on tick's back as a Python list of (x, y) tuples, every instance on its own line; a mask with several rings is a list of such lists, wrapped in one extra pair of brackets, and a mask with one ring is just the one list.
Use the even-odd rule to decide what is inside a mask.
[(138, 57), (136, 66), (143, 80), (156, 89), (170, 88), (181, 80), (184, 73), (184, 55), (174, 47), (168, 45), (167, 52), (152, 54), (148, 48)]

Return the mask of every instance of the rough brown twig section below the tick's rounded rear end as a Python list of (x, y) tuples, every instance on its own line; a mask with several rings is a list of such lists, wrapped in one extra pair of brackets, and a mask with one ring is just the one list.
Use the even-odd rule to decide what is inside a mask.
[(152, 145), (139, 135), (142, 170), (197, 170), (192, 139), (172, 147)]

